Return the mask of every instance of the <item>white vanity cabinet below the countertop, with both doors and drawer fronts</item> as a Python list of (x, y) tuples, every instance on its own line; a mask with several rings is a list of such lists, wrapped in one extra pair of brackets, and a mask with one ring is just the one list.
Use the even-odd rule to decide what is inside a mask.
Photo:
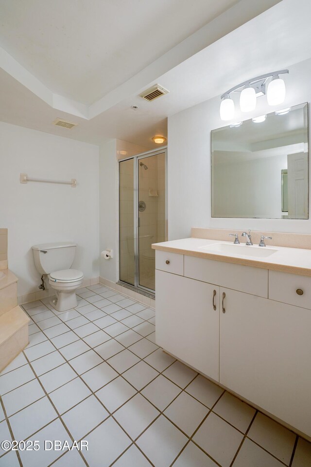
[[(272, 271), (269, 282), (267, 269), (190, 255), (175, 261), (182, 258), (184, 275), (181, 266), (177, 274), (156, 270), (156, 343), (311, 436), (311, 278)], [(287, 303), (280, 302), (282, 287), (297, 299), (284, 294)], [(300, 298), (301, 306), (291, 304)]]

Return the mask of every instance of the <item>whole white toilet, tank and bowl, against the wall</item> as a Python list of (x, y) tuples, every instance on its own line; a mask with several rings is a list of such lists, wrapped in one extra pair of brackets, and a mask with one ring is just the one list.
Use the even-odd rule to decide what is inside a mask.
[(83, 272), (69, 269), (76, 248), (75, 243), (67, 242), (43, 243), (32, 247), (35, 267), (40, 274), (49, 275), (49, 284), (55, 290), (56, 299), (51, 304), (57, 311), (77, 306), (76, 289), (83, 282)]

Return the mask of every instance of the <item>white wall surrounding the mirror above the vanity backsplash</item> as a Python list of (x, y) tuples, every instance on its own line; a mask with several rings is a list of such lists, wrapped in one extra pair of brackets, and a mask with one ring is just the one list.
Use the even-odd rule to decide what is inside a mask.
[[(289, 70), (289, 75), (284, 78), (287, 88), (285, 103), (273, 109), (267, 105), (265, 97), (262, 97), (258, 99), (256, 110), (247, 115), (239, 115), (237, 105), (236, 121), (310, 101), (311, 60), (301, 62)], [(267, 70), (269, 71), (273, 70)], [(219, 117), (219, 105), (220, 98), (216, 97), (168, 118), (169, 239), (190, 236), (191, 227), (310, 233), (311, 218), (299, 220), (211, 217), (210, 132), (225, 126)], [(311, 175), (311, 163), (309, 171)], [(310, 194), (311, 190), (309, 196)]]

